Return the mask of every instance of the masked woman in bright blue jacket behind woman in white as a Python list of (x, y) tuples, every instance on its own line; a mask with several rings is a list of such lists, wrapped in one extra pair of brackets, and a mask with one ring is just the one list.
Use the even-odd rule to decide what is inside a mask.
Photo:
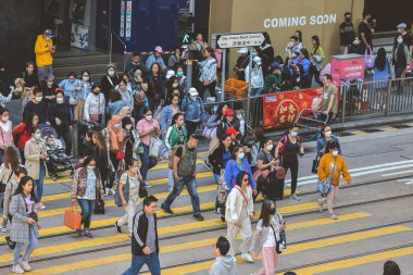
[(250, 164), (246, 158), (246, 151), (243, 147), (236, 146), (231, 153), (233, 159), (226, 163), (225, 166), (225, 183), (229, 188), (229, 191), (237, 185), (237, 175), (243, 171), (250, 176), (249, 185), (251, 186), (253, 193), (256, 192), (256, 184), (253, 178)]

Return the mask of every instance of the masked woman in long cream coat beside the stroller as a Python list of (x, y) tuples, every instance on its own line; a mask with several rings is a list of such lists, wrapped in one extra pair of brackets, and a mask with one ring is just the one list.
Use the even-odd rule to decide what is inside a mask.
[(45, 204), (41, 203), (41, 196), (43, 195), (45, 161), (47, 160), (47, 153), (39, 128), (32, 128), (32, 138), (24, 147), (24, 157), (26, 159), (25, 166), (27, 167), (27, 175), (34, 179), (34, 187), (36, 187), (38, 208), (46, 209)]

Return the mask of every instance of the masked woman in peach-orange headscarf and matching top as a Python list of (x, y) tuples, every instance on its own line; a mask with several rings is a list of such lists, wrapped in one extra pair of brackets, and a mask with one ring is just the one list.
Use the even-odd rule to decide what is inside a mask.
[(109, 159), (111, 160), (114, 170), (117, 171), (120, 161), (125, 158), (123, 152), (124, 133), (122, 129), (122, 121), (118, 115), (112, 115), (112, 118), (108, 122), (107, 128), (103, 129), (103, 136), (107, 140)]

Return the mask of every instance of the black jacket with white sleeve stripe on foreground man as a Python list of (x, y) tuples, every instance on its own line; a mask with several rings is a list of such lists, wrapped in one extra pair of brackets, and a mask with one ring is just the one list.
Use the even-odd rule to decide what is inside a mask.
[[(155, 229), (155, 246), (157, 253), (159, 254), (159, 240), (157, 227), (157, 214), (153, 214), (154, 229)], [(134, 255), (145, 255), (143, 248), (147, 246), (148, 236), (148, 217), (143, 210), (137, 212), (134, 216), (134, 229), (132, 234), (132, 253)], [(151, 251), (153, 252), (153, 251)]]

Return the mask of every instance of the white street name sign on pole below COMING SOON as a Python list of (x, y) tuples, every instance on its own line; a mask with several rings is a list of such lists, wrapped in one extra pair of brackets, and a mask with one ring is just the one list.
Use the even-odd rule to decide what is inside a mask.
[(218, 38), (218, 46), (221, 49), (227, 48), (241, 48), (241, 47), (256, 47), (264, 42), (265, 38), (262, 33), (255, 34), (234, 34), (222, 35)]

